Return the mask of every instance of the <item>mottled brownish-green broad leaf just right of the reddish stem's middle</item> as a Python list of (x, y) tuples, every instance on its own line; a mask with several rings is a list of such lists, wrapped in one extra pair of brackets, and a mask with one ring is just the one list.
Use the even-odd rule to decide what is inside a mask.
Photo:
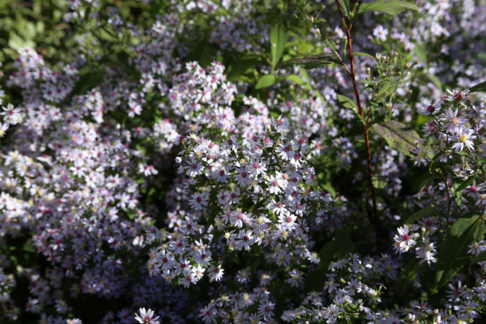
[(383, 137), (389, 146), (401, 153), (412, 156), (412, 151), (417, 147), (416, 142), (423, 142), (415, 130), (409, 129), (399, 121), (387, 121), (383, 124), (374, 123), (371, 128), (380, 137)]

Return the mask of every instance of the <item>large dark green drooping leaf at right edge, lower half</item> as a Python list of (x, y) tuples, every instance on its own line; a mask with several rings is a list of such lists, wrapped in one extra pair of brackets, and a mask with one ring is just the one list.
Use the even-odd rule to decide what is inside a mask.
[(437, 287), (447, 284), (469, 259), (467, 246), (485, 237), (486, 227), (479, 215), (462, 216), (451, 226), (437, 255)]

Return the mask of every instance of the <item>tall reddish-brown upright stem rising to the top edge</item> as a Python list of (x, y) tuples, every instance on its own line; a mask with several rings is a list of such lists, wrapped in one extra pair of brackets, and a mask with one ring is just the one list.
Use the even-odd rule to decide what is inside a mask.
[[(359, 0), (358, 0), (359, 1)], [(336, 0), (337, 10), (340, 12), (341, 20), (344, 25), (344, 29), (346, 30), (346, 39), (348, 41), (348, 51), (349, 51), (349, 63), (351, 65), (351, 80), (353, 81), (353, 88), (354, 94), (356, 97), (356, 103), (358, 104), (358, 109), (360, 110), (360, 115), (362, 119), (364, 119), (364, 112), (360, 101), (360, 92), (358, 92), (358, 85), (356, 83), (356, 76), (354, 71), (354, 60), (353, 60), (353, 46), (351, 44), (351, 28), (346, 24), (346, 19), (344, 19), (344, 15), (342, 13), (342, 9), (340, 6), (339, 1)], [(356, 4), (358, 6), (358, 3)], [(369, 114), (368, 114), (369, 120)], [(378, 230), (378, 208), (376, 207), (376, 194), (375, 188), (373, 186), (373, 169), (371, 167), (371, 153), (369, 149), (369, 138), (368, 138), (368, 130), (367, 124), (362, 123), (363, 127), (363, 136), (364, 136), (364, 146), (366, 146), (366, 160), (367, 160), (367, 167), (368, 167), (368, 182), (369, 182), (369, 190), (371, 192), (371, 200), (373, 201), (373, 217), (371, 223), (373, 223), (375, 228), (376, 234), (376, 248), (378, 251), (380, 250), (380, 233)], [(367, 202), (366, 202), (367, 203)]]

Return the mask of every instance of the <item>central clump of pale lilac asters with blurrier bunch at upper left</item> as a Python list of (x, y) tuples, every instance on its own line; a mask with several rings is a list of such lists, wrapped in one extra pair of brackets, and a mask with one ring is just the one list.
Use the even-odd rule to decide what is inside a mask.
[[(169, 215), (173, 230), (163, 238), (166, 243), (151, 253), (151, 273), (161, 273), (167, 280), (178, 278), (185, 286), (201, 280), (204, 273), (210, 281), (221, 280), (224, 269), (212, 261), (215, 252), (211, 246), (222, 241), (229, 251), (262, 246), (268, 253), (267, 261), (278, 266), (288, 266), (297, 258), (318, 262), (317, 254), (310, 250), (307, 223), (313, 221), (308, 217), (311, 210), (320, 214), (330, 203), (329, 196), (312, 191), (316, 175), (311, 164), (322, 146), (305, 137), (288, 139), (289, 121), (283, 117), (269, 119), (262, 114), (265, 110), (258, 114), (249, 110), (235, 119), (226, 108), (228, 115), (221, 116), (220, 110), (228, 104), (228, 89), (233, 89), (231, 84), (222, 83), (226, 92), (215, 91), (221, 83), (218, 80), (224, 80), (219, 72), (222, 69), (219, 65), (211, 67), (211, 74), (219, 78), (206, 76), (206, 71), (194, 63), (188, 63), (187, 69), (169, 94), (173, 94), (176, 107), (192, 103), (181, 109), (186, 114), (184, 119), (192, 114), (203, 116), (201, 122), (206, 123), (211, 139), (199, 132), (199, 136), (192, 133), (181, 141), (183, 151), (176, 159), (181, 191), (174, 196), (185, 192), (185, 198), (178, 199), (179, 210)], [(207, 96), (204, 88), (196, 91), (182, 87), (195, 87), (198, 82), (208, 87), (214, 84)], [(245, 101), (253, 109), (258, 104), (252, 99)], [(192, 124), (193, 128), (202, 126)], [(221, 257), (221, 250), (217, 253)]]

